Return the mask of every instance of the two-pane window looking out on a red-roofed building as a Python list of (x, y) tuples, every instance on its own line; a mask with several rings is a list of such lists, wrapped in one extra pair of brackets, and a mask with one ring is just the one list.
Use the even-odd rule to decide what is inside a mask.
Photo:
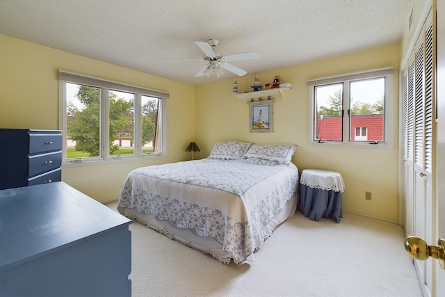
[(308, 81), (311, 143), (385, 144), (392, 68)]

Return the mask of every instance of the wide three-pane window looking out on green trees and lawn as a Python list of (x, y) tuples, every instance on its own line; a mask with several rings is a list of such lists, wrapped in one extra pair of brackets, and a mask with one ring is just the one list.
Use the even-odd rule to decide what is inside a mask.
[(167, 93), (59, 72), (64, 163), (101, 163), (165, 152)]

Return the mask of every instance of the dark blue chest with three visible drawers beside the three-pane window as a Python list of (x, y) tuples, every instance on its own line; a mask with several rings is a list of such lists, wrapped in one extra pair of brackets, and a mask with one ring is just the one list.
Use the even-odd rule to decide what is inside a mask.
[(60, 182), (62, 131), (0, 129), (0, 190)]

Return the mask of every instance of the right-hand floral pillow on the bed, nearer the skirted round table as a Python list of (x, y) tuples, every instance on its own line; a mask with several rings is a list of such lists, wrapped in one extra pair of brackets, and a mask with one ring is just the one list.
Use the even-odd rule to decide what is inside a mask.
[(297, 145), (252, 145), (243, 159), (257, 158), (289, 164), (296, 148)]

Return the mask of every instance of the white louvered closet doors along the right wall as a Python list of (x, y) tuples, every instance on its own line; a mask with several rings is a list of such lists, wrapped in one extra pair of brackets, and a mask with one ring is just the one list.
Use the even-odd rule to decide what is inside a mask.
[[(432, 18), (403, 72), (403, 195), (407, 235), (432, 240), (433, 44)], [(423, 296), (431, 296), (432, 260), (414, 260)]]

